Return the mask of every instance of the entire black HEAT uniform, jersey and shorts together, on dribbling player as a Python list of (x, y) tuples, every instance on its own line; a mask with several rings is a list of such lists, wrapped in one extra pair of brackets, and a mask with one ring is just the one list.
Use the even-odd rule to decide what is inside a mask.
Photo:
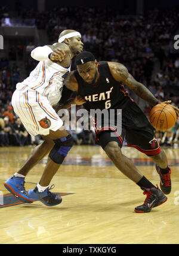
[[(122, 141), (125, 138), (128, 146), (135, 147), (141, 152), (146, 153), (146, 155), (160, 153), (161, 149), (152, 125), (140, 107), (129, 97), (122, 83), (113, 79), (108, 63), (105, 61), (99, 62), (98, 72), (100, 73), (100, 77), (95, 85), (89, 85), (79, 76), (78, 71), (75, 71), (75, 77), (78, 82), (78, 93), (87, 101), (84, 104), (85, 109), (89, 112), (91, 109), (115, 109), (115, 118), (111, 120), (109, 113), (107, 118), (103, 117), (101, 120), (100, 127), (98, 127), (97, 118), (95, 118), (97, 144), (100, 144), (104, 149), (109, 141), (117, 141), (121, 147)], [(122, 123), (121, 121), (118, 122), (118, 110), (122, 110)], [(104, 125), (107, 119), (110, 119), (109, 127)], [(118, 125), (122, 127), (121, 134), (116, 129)], [(115, 131), (118, 136), (112, 137), (110, 133), (105, 133), (102, 136), (101, 134), (103, 132), (107, 132), (106, 128), (109, 131)]]

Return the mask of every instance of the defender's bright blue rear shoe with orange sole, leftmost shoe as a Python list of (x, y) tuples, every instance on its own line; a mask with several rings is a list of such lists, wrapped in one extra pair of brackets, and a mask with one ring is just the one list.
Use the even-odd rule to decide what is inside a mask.
[(24, 178), (13, 176), (5, 181), (4, 186), (18, 201), (23, 203), (33, 203), (33, 199), (29, 197), (24, 188), (24, 183)]

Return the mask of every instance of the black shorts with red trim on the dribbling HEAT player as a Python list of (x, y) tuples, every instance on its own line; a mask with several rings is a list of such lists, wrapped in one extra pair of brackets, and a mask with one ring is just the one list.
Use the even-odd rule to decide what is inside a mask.
[(161, 152), (152, 125), (136, 103), (131, 102), (122, 109), (120, 134), (116, 130), (116, 120), (114, 124), (110, 122), (109, 127), (96, 128), (96, 143), (103, 149), (110, 141), (116, 141), (122, 147), (124, 139), (128, 147), (135, 147), (146, 155), (157, 155)]

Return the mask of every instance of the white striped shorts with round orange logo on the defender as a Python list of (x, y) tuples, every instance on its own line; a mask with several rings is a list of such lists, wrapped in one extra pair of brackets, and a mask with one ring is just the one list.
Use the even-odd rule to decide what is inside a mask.
[(16, 89), (12, 97), (14, 112), (30, 135), (48, 135), (57, 131), (63, 121), (59, 118), (48, 98), (32, 89), (21, 92)]

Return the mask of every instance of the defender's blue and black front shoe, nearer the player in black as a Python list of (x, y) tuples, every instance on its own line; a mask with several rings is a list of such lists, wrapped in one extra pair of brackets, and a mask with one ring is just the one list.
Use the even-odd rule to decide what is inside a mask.
[(54, 186), (52, 185), (50, 188), (45, 189), (44, 192), (39, 192), (38, 187), (36, 186), (35, 188), (30, 189), (28, 194), (29, 197), (33, 198), (33, 200), (41, 201), (47, 206), (55, 206), (61, 203), (62, 198), (59, 195), (50, 192), (53, 188)]

